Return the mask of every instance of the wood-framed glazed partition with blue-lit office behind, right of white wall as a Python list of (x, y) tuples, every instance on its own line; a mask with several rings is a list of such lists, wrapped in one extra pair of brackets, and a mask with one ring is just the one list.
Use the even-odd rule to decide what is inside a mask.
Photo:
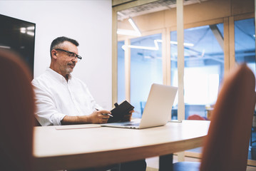
[[(114, 6), (113, 26), (119, 34), (113, 35), (113, 99), (129, 100), (140, 118), (150, 85), (180, 86), (178, 73), (184, 72), (183, 95), (176, 95), (171, 118), (210, 120), (225, 75), (240, 63), (255, 73), (255, 1), (183, 1), (183, 18), (176, 16), (176, 1), (140, 2)], [(182, 19), (184, 66), (179, 69), (177, 27)], [(184, 113), (179, 114), (178, 98), (183, 98)], [(252, 128), (248, 165), (254, 166), (255, 140)], [(185, 156), (200, 157), (200, 150)]]

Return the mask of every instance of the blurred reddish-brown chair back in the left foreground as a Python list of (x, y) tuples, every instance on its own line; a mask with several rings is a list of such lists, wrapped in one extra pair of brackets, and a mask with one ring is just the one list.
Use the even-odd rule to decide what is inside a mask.
[(0, 49), (0, 170), (31, 170), (34, 91), (29, 69)]

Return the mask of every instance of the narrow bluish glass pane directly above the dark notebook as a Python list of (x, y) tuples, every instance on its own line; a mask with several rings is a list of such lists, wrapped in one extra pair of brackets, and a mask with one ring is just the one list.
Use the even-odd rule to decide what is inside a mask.
[(124, 41), (118, 41), (118, 104), (126, 99), (125, 88), (125, 54), (122, 46)]

